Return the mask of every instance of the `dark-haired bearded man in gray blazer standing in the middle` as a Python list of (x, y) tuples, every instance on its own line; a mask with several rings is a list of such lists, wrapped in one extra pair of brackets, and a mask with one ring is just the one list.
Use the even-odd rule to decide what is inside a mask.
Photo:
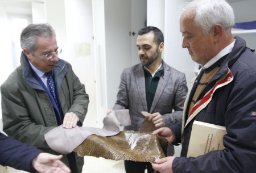
[[(141, 64), (124, 69), (118, 88), (116, 109), (129, 109), (131, 125), (125, 130), (139, 131), (144, 123), (142, 111), (155, 128), (170, 127), (181, 121), (183, 104), (187, 96), (185, 74), (167, 65), (162, 60), (164, 37), (156, 27), (142, 28), (137, 38)], [(168, 155), (174, 154), (174, 146)], [(127, 173), (154, 172), (151, 163), (125, 161)]]

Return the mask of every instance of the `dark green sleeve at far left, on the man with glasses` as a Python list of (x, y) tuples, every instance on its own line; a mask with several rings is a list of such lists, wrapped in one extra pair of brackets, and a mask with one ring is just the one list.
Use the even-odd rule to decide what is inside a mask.
[[(46, 94), (40, 92), (40, 96), (45, 98), (40, 103), (35, 95), (32, 88), (12, 81), (1, 86), (3, 131), (15, 140), (47, 149), (49, 146), (44, 134), (57, 126), (56, 117), (52, 116), (54, 110), (49, 109), (52, 106), (47, 102)], [(40, 107), (42, 105), (45, 108)], [(43, 111), (47, 112), (46, 119), (42, 116)]]

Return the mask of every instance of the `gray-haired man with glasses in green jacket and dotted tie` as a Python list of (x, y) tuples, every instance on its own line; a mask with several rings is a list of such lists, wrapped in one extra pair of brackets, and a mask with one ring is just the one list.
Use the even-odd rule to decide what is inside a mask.
[[(44, 152), (49, 148), (44, 134), (56, 126), (81, 125), (88, 109), (85, 86), (72, 66), (58, 57), (55, 31), (49, 24), (30, 24), (20, 35), (21, 65), (1, 86), (3, 130), (20, 142)], [(62, 161), (72, 173), (82, 172), (84, 159), (75, 153)]]

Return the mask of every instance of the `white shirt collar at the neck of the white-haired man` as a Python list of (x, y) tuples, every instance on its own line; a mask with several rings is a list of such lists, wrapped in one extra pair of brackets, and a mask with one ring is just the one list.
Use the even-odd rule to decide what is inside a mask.
[(207, 64), (205, 64), (204, 66), (202, 66), (202, 69), (207, 69), (210, 66), (212, 66), (215, 62), (217, 62), (218, 60), (220, 60), (221, 57), (224, 57), (226, 54), (229, 54), (232, 49), (234, 48), (234, 44), (235, 44), (234, 40), (231, 44), (229, 44), (227, 47), (225, 47), (224, 49), (222, 49), (216, 56), (214, 56), (210, 61), (207, 62)]

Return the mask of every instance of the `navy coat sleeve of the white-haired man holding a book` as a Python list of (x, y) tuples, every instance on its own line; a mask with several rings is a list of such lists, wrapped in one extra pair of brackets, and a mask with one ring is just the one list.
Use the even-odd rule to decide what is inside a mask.
[[(174, 173), (255, 172), (256, 71), (243, 71), (246, 73), (242, 73), (243, 75), (232, 83), (233, 88), (225, 100), (225, 149), (210, 151), (196, 158), (176, 157), (172, 163)], [(225, 90), (222, 89), (219, 95), (224, 93)]]

